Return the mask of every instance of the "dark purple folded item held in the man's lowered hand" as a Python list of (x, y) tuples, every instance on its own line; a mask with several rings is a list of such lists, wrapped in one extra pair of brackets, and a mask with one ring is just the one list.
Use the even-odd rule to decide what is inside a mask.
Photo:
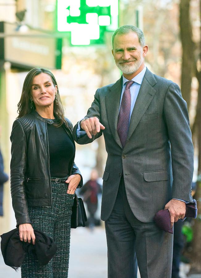
[[(196, 200), (194, 199), (193, 204), (192, 203), (186, 204), (186, 214), (184, 219), (186, 219), (186, 217), (196, 218), (197, 214), (198, 214), (197, 203)], [(182, 219), (182, 221), (184, 219)], [(170, 214), (168, 209), (159, 210), (154, 216), (154, 222), (161, 230), (173, 234), (173, 228), (171, 228)]]

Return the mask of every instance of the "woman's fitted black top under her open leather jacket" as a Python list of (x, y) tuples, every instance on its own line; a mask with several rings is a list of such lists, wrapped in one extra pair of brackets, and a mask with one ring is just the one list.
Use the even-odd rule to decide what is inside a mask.
[[(53, 120), (54, 123), (57, 120)], [(49, 159), (51, 177), (63, 178), (69, 175), (69, 163), (74, 154), (74, 144), (62, 126), (56, 127), (53, 124), (47, 124)]]

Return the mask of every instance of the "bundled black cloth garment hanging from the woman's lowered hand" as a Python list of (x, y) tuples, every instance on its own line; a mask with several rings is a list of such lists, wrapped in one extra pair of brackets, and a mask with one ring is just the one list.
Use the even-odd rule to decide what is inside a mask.
[(1, 235), (1, 251), (6, 265), (17, 270), (24, 261), (25, 252), (31, 254), (41, 265), (49, 263), (57, 251), (55, 242), (39, 230), (34, 230), (34, 234), (35, 245), (21, 241), (18, 228)]

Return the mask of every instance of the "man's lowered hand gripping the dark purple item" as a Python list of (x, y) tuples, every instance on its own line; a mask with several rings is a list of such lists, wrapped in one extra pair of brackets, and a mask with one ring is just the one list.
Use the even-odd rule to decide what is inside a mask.
[(171, 227), (173, 226), (174, 222), (177, 222), (178, 219), (183, 219), (186, 213), (186, 203), (180, 200), (172, 199), (166, 205), (165, 208), (168, 208), (170, 213), (170, 221)]

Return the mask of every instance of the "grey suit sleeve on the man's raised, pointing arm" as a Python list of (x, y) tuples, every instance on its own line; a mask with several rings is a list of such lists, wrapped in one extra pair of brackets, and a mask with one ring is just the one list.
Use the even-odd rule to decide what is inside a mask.
[[(99, 121), (101, 121), (99, 89), (96, 90), (96, 93), (94, 95), (94, 101), (92, 102), (92, 106), (88, 109), (87, 115), (84, 118), (92, 118), (92, 117), (97, 117), (99, 119)], [(92, 139), (90, 139), (87, 134), (78, 138), (77, 137), (77, 128), (78, 128), (78, 123), (73, 128), (73, 139), (75, 140), (75, 142), (77, 142), (80, 145), (84, 145), (84, 144), (93, 142), (95, 139), (100, 137), (103, 133), (101, 130), (99, 133), (96, 133), (96, 135), (92, 135)]]

